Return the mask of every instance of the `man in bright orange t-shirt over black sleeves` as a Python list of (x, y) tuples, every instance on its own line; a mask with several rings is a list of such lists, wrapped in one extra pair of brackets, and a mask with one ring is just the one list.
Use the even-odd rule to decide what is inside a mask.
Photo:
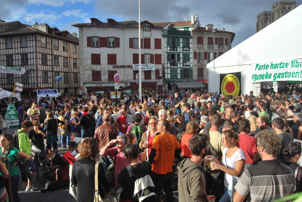
[(160, 120), (157, 125), (157, 135), (153, 139), (153, 145), (149, 156), (149, 162), (153, 163), (151, 179), (155, 186), (156, 202), (160, 202), (162, 188), (167, 196), (167, 202), (173, 202), (172, 190), (172, 166), (174, 157), (180, 160), (180, 145), (176, 137), (168, 133), (170, 124), (167, 120)]

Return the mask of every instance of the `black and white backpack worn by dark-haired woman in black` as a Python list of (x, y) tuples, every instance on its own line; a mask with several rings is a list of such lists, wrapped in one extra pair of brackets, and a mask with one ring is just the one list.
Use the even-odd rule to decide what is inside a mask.
[(132, 201), (136, 202), (154, 202), (156, 201), (155, 187), (153, 181), (148, 173), (146, 167), (148, 162), (143, 161), (144, 169), (137, 170), (133, 166), (126, 166), (130, 177), (134, 176), (137, 180), (134, 182), (134, 193)]

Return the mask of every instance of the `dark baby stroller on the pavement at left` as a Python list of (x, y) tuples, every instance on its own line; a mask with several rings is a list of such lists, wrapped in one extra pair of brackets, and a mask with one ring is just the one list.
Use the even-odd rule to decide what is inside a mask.
[(35, 145), (31, 147), (31, 154), (33, 156), (34, 164), (37, 169), (37, 179), (40, 180), (42, 184), (45, 184), (48, 175), (53, 175), (53, 170), (51, 169), (51, 160), (47, 159), (39, 148)]

